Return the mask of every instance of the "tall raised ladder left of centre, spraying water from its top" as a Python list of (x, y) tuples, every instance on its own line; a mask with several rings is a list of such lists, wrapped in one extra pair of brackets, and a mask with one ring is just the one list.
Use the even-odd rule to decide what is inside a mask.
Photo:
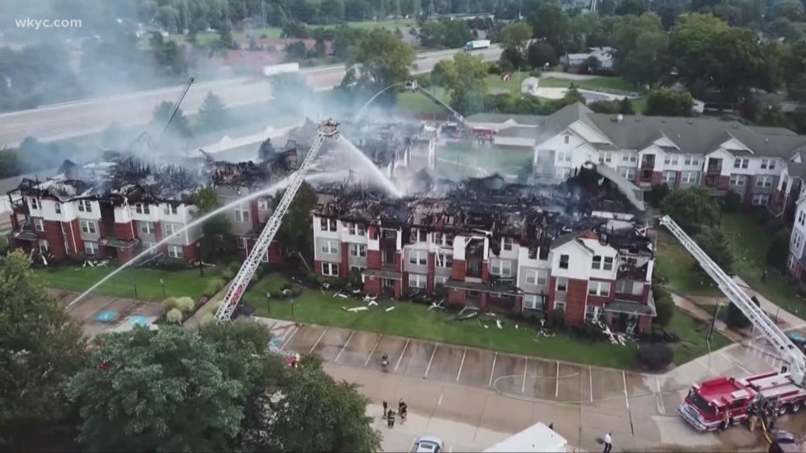
[(302, 161), (300, 168), (297, 169), (297, 172), (293, 175), (289, 188), (285, 190), (283, 197), (280, 198), (280, 203), (277, 204), (276, 209), (272, 213), (272, 217), (266, 222), (266, 226), (264, 226), (263, 231), (260, 233), (255, 243), (255, 247), (252, 247), (247, 260), (243, 262), (243, 266), (241, 266), (241, 269), (238, 271), (238, 275), (235, 276), (230, 288), (226, 290), (224, 300), (221, 302), (215, 314), (215, 318), (218, 321), (231, 319), (232, 314), (235, 313), (235, 309), (238, 308), (238, 304), (247, 289), (247, 285), (249, 285), (252, 276), (255, 275), (257, 268), (260, 267), (260, 261), (268, 252), (268, 247), (272, 244), (272, 240), (274, 240), (277, 231), (280, 231), (283, 217), (289, 210), (289, 206), (291, 206), (291, 202), (293, 202), (297, 190), (300, 189), (302, 181), (305, 181), (305, 173), (308, 172), (311, 164), (314, 163), (319, 148), (322, 148), (322, 143), (324, 143), (326, 139), (338, 138), (339, 123), (334, 123), (332, 119), (328, 119), (319, 125), (316, 139), (314, 139), (314, 143), (311, 145), (308, 155), (305, 156), (305, 160)]

